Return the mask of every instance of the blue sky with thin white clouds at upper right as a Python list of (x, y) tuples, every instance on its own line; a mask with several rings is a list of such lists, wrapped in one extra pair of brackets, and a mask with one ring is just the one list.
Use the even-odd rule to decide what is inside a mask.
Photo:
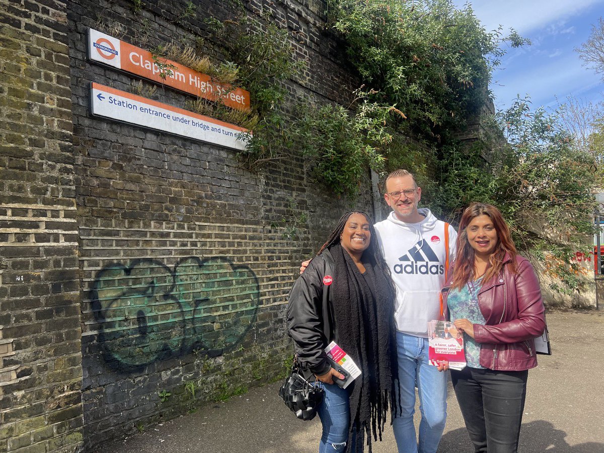
[[(463, 7), (465, 0), (454, 0)], [(591, 25), (604, 16), (604, 0), (475, 0), (475, 15), (486, 30), (515, 28), (532, 45), (508, 49), (493, 74), (495, 106), (506, 108), (519, 94), (533, 106), (555, 108), (556, 96), (574, 95), (594, 103), (604, 100), (604, 83), (585, 68), (573, 49), (590, 36)]]

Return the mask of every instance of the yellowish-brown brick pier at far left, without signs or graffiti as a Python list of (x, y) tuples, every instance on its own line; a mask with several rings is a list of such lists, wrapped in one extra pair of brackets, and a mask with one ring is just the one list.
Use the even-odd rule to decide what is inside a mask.
[(67, 28), (0, 1), (0, 451), (83, 445)]

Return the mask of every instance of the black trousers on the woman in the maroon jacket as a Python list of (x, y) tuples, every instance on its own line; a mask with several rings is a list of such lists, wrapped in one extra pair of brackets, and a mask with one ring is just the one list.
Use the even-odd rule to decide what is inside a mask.
[(451, 370), (455, 396), (476, 453), (516, 453), (528, 370)]

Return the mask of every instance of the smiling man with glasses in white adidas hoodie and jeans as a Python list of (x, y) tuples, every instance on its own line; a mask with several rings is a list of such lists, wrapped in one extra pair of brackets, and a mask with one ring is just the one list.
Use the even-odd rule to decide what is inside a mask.
[[(396, 286), (394, 318), (399, 359), (400, 408), (393, 420), (399, 453), (435, 453), (445, 429), (446, 373), (428, 364), (428, 321), (440, 316), (440, 288), (445, 283), (445, 228), (449, 259), (455, 255), (454, 228), (418, 208), (422, 188), (406, 170), (386, 178), (384, 198), (393, 209), (376, 223), (377, 239)], [(415, 388), (422, 420), (419, 440), (413, 425)]]

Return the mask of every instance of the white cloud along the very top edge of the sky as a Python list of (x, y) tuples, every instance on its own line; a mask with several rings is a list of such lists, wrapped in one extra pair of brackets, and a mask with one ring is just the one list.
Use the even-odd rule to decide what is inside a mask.
[[(455, 0), (457, 7), (463, 7), (464, 3), (464, 0)], [(506, 30), (511, 27), (520, 34), (527, 34), (597, 4), (604, 4), (604, 0), (475, 0), (472, 9), (487, 30), (503, 25)]]

